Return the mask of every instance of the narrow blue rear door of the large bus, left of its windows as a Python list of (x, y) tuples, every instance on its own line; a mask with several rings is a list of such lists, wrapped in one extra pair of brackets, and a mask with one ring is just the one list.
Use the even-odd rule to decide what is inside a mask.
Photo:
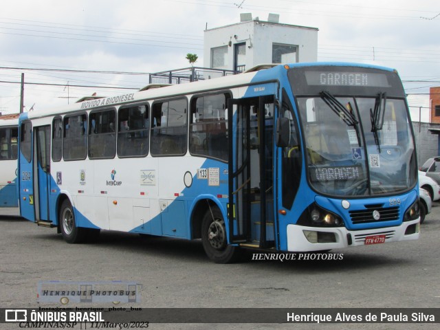
[(36, 221), (49, 221), (50, 125), (34, 128), (34, 208)]

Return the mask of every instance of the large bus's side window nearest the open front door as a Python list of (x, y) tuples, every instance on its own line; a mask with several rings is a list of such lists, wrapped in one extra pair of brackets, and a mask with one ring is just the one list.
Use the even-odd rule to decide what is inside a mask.
[(228, 161), (227, 104), (229, 94), (191, 100), (190, 153)]

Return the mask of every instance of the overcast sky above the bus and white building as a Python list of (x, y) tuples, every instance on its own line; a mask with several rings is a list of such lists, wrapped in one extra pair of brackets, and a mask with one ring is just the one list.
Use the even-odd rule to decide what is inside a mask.
[[(25, 109), (75, 102), (96, 92), (125, 94), (147, 75), (27, 70), (74, 69), (159, 72), (188, 67), (188, 52), (203, 66), (203, 30), (238, 23), (240, 14), (318, 28), (318, 61), (393, 67), (404, 80), (412, 120), (428, 121), (429, 87), (440, 86), (438, 0), (14, 0), (0, 12), (0, 111), (19, 111), (21, 73)], [(18, 67), (20, 69), (5, 69)], [(413, 82), (417, 80), (417, 82)], [(8, 82), (8, 83), (5, 83)], [(69, 85), (69, 87), (67, 87)]]

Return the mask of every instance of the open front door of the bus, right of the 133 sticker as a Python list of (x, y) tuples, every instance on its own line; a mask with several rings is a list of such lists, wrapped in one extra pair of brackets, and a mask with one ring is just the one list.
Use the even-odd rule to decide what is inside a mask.
[(274, 246), (273, 122), (274, 96), (229, 100), (230, 243)]

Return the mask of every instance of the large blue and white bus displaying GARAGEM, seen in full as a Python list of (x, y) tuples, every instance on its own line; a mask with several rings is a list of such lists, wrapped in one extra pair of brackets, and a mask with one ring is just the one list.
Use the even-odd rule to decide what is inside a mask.
[[(157, 86), (156, 86), (157, 87)], [(21, 115), (23, 217), (68, 243), (118, 230), (305, 252), (419, 237), (397, 72), (301, 63)]]

